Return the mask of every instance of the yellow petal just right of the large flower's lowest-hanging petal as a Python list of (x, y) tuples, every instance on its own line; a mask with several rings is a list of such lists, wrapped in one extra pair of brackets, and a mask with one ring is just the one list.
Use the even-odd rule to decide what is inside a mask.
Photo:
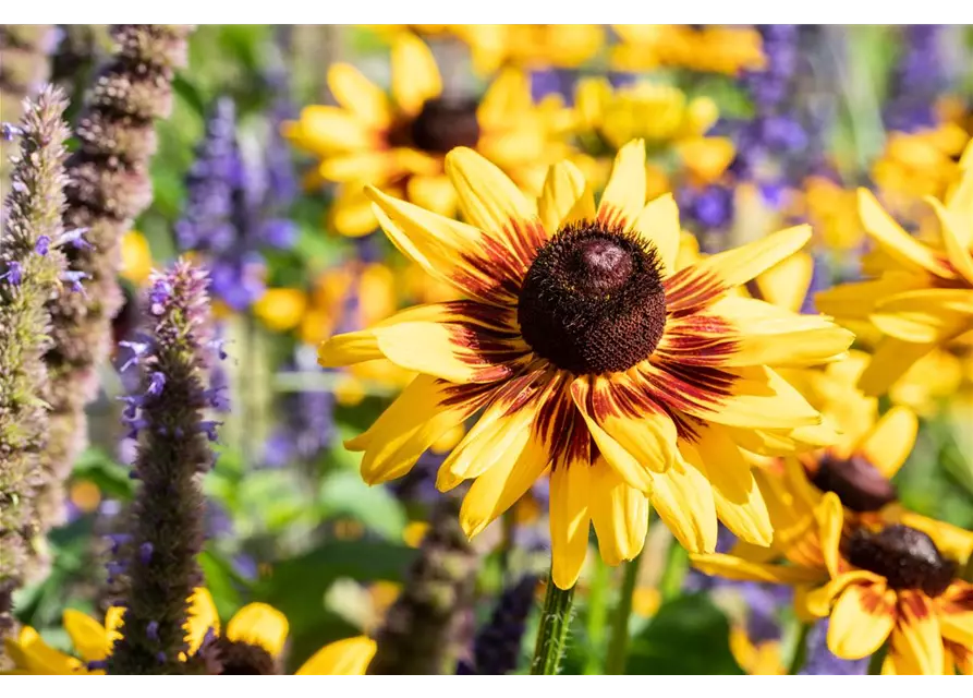
[(648, 531), (648, 498), (599, 458), (592, 466), (592, 522), (608, 565), (634, 559)]

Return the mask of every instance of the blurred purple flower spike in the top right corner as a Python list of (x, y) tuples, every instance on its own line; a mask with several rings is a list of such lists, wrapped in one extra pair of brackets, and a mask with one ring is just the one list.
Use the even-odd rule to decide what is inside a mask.
[(936, 99), (947, 86), (941, 35), (939, 24), (902, 27), (902, 53), (883, 115), (887, 129), (912, 133), (936, 125)]

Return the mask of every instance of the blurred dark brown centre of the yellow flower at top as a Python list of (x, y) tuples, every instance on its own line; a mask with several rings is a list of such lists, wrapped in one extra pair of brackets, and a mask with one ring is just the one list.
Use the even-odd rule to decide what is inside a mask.
[(449, 153), (461, 145), (476, 147), (476, 106), (474, 99), (429, 99), (415, 119), (393, 131), (390, 141), (427, 153)]

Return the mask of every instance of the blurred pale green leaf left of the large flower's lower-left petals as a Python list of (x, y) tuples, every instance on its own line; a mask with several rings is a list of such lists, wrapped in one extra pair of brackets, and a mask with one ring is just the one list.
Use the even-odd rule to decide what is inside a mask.
[(320, 490), (321, 516), (351, 516), (365, 528), (390, 540), (401, 540), (405, 528), (402, 505), (385, 488), (370, 488), (357, 472), (339, 470), (330, 474)]

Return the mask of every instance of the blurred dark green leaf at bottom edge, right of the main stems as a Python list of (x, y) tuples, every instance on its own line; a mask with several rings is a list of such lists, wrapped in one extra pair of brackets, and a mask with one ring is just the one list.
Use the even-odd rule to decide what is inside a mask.
[(706, 593), (664, 603), (632, 638), (628, 676), (742, 676), (730, 652), (730, 624)]

